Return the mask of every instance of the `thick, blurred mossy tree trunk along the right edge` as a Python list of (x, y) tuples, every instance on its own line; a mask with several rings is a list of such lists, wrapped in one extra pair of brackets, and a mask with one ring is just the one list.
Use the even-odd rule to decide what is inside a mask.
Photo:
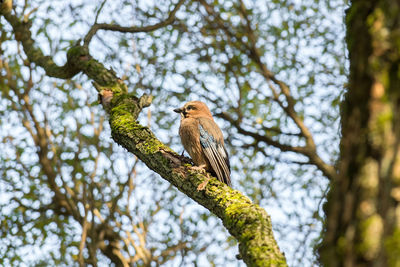
[(400, 1), (352, 1), (346, 24), (349, 88), (321, 262), (400, 266)]

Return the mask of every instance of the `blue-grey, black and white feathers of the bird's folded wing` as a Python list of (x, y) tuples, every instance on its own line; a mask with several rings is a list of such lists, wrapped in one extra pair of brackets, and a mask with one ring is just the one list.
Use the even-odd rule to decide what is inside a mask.
[(218, 180), (231, 186), (229, 158), (224, 145), (209, 134), (201, 124), (199, 130), (200, 144)]

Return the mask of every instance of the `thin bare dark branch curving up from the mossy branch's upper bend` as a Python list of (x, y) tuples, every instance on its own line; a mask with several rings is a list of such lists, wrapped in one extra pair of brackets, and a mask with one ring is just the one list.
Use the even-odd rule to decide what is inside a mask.
[(86, 34), (84, 40), (84, 45), (88, 46), (93, 36), (97, 33), (98, 30), (107, 30), (107, 31), (117, 31), (124, 33), (137, 33), (137, 32), (151, 32), (160, 28), (163, 28), (167, 25), (172, 24), (175, 21), (175, 14), (178, 12), (179, 8), (183, 5), (186, 0), (180, 0), (175, 8), (168, 15), (166, 20), (160, 21), (153, 25), (143, 26), (143, 27), (125, 27), (117, 24), (107, 24), (107, 23), (95, 23), (92, 28), (90, 28), (89, 32)]

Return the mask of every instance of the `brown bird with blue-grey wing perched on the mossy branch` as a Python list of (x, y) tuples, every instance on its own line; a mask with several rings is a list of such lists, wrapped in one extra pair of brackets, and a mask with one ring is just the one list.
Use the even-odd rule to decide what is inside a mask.
[(181, 114), (179, 135), (193, 162), (231, 186), (231, 171), (224, 137), (206, 104), (191, 101), (174, 111)]

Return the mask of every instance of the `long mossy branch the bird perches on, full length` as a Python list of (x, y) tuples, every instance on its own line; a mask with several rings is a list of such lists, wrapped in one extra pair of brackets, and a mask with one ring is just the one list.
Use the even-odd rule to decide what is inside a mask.
[(40, 49), (34, 47), (29, 24), (10, 13), (3, 12), (2, 15), (13, 27), (16, 39), (23, 44), (29, 60), (43, 67), (48, 76), (68, 79), (83, 72), (93, 80), (110, 115), (113, 139), (151, 170), (218, 216), (238, 240), (239, 256), (248, 266), (287, 266), (273, 237), (271, 219), (264, 209), (215, 178), (204, 190), (198, 191), (197, 187), (206, 179), (205, 175), (191, 168), (180, 155), (159, 141), (149, 128), (137, 122), (140, 111), (150, 104), (151, 97), (144, 95), (138, 98), (128, 94), (126, 85), (116, 74), (93, 59), (83, 46), (72, 47), (67, 54), (67, 63), (57, 66), (51, 57), (44, 56)]

